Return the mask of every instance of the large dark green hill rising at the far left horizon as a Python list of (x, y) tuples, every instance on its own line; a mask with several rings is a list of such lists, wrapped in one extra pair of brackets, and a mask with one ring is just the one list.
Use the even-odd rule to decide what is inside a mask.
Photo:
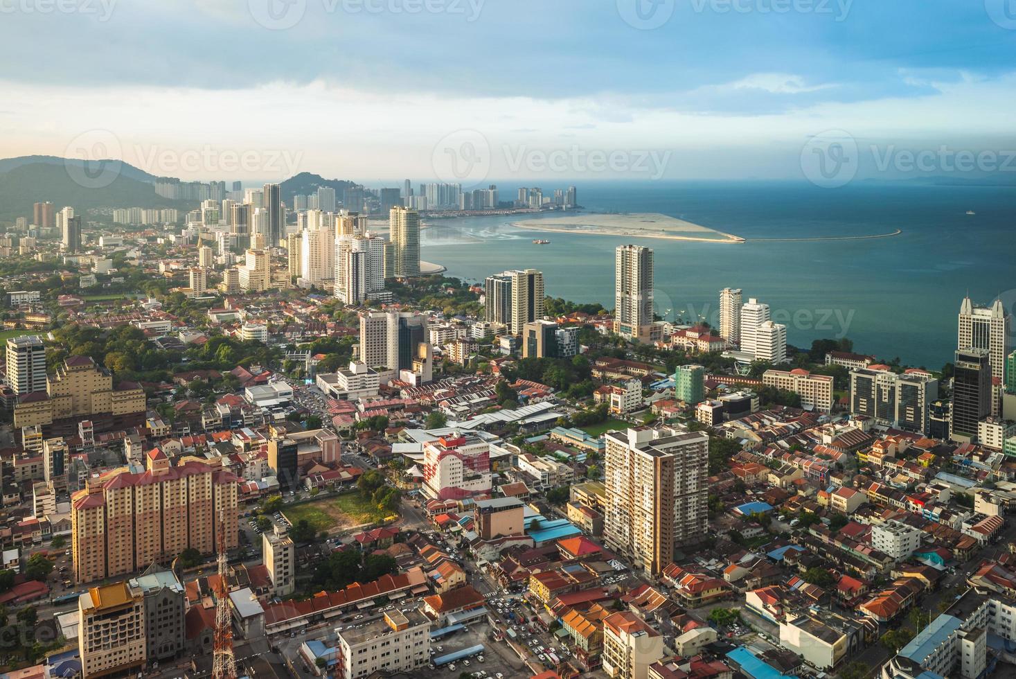
[(33, 203), (44, 200), (51, 201), (56, 209), (71, 205), (78, 213), (97, 207), (187, 206), (183, 201), (157, 195), (151, 184), (125, 174), (117, 176), (109, 186), (81, 186), (71, 178), (62, 163), (20, 165), (0, 175), (0, 221), (13, 222), (18, 217), (30, 219)]

